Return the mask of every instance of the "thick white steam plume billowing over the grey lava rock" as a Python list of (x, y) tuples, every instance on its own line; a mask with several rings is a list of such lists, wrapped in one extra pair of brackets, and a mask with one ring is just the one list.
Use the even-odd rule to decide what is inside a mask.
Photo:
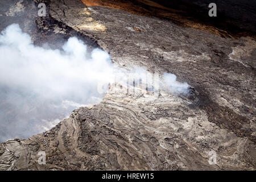
[[(108, 53), (88, 52), (77, 38), (62, 49), (36, 47), (18, 24), (2, 31), (0, 54), (0, 142), (46, 131), (73, 109), (99, 103), (104, 93), (98, 85), (113, 83), (115, 73), (123, 72), (114, 69)], [(162, 82), (169, 92), (187, 93), (188, 85), (175, 75), (165, 73)]]

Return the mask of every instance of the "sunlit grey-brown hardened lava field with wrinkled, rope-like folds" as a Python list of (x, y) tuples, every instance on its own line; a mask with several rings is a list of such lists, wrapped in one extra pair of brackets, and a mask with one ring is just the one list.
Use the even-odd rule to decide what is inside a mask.
[[(48, 16), (36, 18), (39, 30), (79, 32), (115, 65), (174, 73), (191, 93), (162, 91), (155, 99), (112, 85), (101, 104), (73, 111), (43, 134), (2, 143), (0, 169), (256, 169), (255, 39), (222, 38), (78, 0), (45, 2)], [(208, 163), (212, 150), (215, 165)], [(46, 165), (38, 164), (39, 151), (46, 152)]]

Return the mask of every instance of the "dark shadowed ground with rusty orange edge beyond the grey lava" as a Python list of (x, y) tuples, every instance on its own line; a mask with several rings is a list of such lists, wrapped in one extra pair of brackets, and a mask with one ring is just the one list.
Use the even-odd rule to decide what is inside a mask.
[(103, 6), (125, 10), (137, 15), (169, 19), (183, 27), (205, 30), (227, 38), (256, 34), (256, 3), (254, 0), (215, 0), (217, 16), (209, 18), (211, 0), (81, 0), (86, 6)]

